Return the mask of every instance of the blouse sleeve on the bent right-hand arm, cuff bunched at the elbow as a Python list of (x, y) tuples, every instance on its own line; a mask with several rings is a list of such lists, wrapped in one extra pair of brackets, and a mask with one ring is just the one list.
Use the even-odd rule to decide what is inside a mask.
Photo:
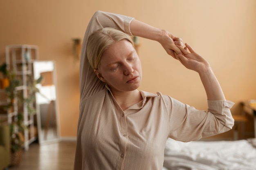
[[(169, 137), (178, 141), (192, 141), (217, 135), (231, 130), (234, 119), (230, 108), (233, 102), (208, 100), (208, 111), (197, 110), (186, 104), (168, 97)], [(171, 104), (171, 105), (169, 105)]]

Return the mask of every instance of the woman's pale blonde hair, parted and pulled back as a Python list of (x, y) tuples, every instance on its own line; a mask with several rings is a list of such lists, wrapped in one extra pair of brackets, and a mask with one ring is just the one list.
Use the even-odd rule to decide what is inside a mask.
[(103, 52), (115, 42), (128, 40), (134, 46), (130, 35), (113, 28), (103, 28), (93, 32), (87, 42), (86, 53), (93, 69), (98, 69)]

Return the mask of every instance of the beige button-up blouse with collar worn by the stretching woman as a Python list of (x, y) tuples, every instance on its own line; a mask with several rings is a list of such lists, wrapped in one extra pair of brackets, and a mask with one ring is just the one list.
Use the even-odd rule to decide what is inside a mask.
[(180, 141), (226, 132), (234, 125), (233, 102), (208, 101), (208, 112), (168, 95), (141, 91), (143, 100), (122, 110), (89, 65), (88, 36), (103, 27), (130, 33), (133, 20), (97, 11), (85, 32), (80, 64), (80, 115), (74, 170), (162, 170), (168, 137)]

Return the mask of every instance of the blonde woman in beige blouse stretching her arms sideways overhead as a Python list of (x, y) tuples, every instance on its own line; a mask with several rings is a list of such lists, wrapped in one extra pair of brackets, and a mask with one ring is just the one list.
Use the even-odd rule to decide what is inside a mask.
[[(129, 35), (162, 44), (199, 73), (208, 112), (168, 95), (138, 91), (142, 71)], [(124, 15), (97, 11), (85, 32), (74, 170), (162, 170), (168, 137), (198, 140), (230, 130), (230, 108), (211, 67), (171, 33)]]

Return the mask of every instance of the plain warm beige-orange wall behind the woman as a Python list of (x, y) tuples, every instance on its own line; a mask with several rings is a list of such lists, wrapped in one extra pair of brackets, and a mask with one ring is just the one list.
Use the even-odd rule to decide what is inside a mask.
[[(83, 38), (94, 11), (110, 11), (166, 29), (188, 42), (210, 63), (227, 99), (256, 98), (255, 0), (2, 0), (0, 61), (7, 44), (35, 44), (40, 60), (55, 60), (61, 136), (75, 137), (79, 116), (79, 62), (72, 38)], [(157, 42), (140, 38), (141, 90), (171, 95), (207, 109), (197, 73), (169, 57)]]

